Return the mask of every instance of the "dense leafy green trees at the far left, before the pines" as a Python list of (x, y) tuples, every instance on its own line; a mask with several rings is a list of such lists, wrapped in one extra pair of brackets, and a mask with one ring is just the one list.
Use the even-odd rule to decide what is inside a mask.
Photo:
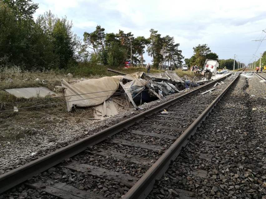
[(37, 8), (31, 0), (0, 2), (0, 65), (43, 70), (76, 62), (81, 42), (71, 32), (72, 22), (51, 12), (34, 21)]

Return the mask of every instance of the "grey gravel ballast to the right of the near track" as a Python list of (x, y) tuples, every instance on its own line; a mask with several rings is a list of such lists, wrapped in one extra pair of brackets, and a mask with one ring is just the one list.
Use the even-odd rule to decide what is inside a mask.
[(265, 83), (241, 75), (228, 93), (147, 198), (266, 198)]

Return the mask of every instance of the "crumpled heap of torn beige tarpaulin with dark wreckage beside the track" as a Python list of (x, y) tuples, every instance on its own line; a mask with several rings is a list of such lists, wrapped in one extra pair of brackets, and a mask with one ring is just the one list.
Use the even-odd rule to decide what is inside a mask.
[(120, 93), (127, 94), (132, 104), (137, 107), (134, 101), (138, 102), (143, 99), (142, 102), (145, 102), (146, 97), (146, 102), (150, 102), (185, 88), (184, 81), (171, 71), (148, 75), (144, 72), (136, 72), (124, 76), (88, 79), (76, 84), (69, 84), (62, 79), (62, 87), (65, 88), (67, 111), (71, 111), (73, 106), (99, 105), (118, 89)]

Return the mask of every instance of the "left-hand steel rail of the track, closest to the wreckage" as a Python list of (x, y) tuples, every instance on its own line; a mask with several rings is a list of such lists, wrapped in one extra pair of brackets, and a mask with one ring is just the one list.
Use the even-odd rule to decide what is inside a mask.
[(156, 107), (153, 107), (147, 111), (144, 111), (138, 115), (135, 115), (129, 119), (126, 119), (124, 121), (121, 121), (113, 126), (110, 126), (104, 130), (101, 130), (93, 135), (90, 135), (82, 140), (76, 141), (75, 143), (72, 143), (68, 146), (65, 146), (61, 149), (56, 150), (55, 152), (52, 152), (50, 154), (47, 154), (39, 159), (33, 160), (32, 162), (26, 163), (22, 165), (19, 168), (15, 168), (12, 171), (9, 171), (7, 173), (4, 173), (0, 175), (0, 193), (5, 192), (12, 187), (17, 186), (18, 184), (26, 181), (29, 178), (32, 178), (33, 176), (44, 172), (45, 170), (61, 163), (66, 158), (70, 158), (83, 150), (85, 150), (88, 146), (96, 145), (97, 143), (111, 137), (112, 135), (115, 135), (116, 133), (122, 131), (124, 128), (127, 128), (129, 126), (132, 126), (135, 124), (135, 122), (142, 120), (145, 118), (145, 116), (150, 116), (153, 113), (156, 113), (162, 109), (165, 109), (166, 107), (169, 107), (170, 105), (174, 104), (175, 102), (189, 96), (192, 93), (195, 93), (202, 88), (208, 86), (211, 83), (217, 82), (223, 78), (228, 77), (230, 74), (213, 80), (210, 83), (207, 83), (206, 85), (196, 88), (193, 91), (187, 92), (186, 94), (183, 94), (179, 97), (176, 97), (168, 102), (165, 102), (163, 104), (160, 104)]

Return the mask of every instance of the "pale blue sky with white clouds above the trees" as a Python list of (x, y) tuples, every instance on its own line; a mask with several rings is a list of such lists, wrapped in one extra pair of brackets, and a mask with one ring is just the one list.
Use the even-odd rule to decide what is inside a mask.
[[(106, 33), (131, 32), (134, 37), (173, 36), (185, 58), (193, 47), (207, 44), (219, 59), (244, 64), (258, 60), (266, 50), (266, 1), (239, 0), (32, 0), (39, 4), (34, 17), (51, 11), (72, 21), (72, 31), (83, 39), (97, 25)], [(265, 32), (264, 32), (264, 31)], [(255, 55), (253, 55), (255, 54)], [(146, 63), (152, 58), (145, 53)]]

